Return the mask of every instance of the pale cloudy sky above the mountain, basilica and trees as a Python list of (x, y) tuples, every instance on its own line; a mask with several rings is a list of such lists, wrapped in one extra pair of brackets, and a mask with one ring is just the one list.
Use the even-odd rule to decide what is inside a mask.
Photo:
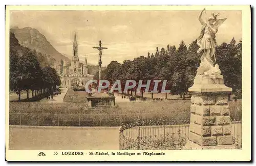
[[(234, 37), (242, 39), (241, 11), (206, 11), (227, 18), (216, 34), (218, 44), (229, 43)], [(10, 26), (32, 27), (45, 35), (47, 40), (63, 55), (72, 57), (74, 33), (77, 34), (78, 56), (89, 64), (98, 64), (99, 40), (103, 47), (102, 66), (111, 61), (122, 63), (147, 52), (155, 53), (156, 47), (176, 45), (183, 40), (188, 46), (200, 34), (200, 11), (11, 11)]]

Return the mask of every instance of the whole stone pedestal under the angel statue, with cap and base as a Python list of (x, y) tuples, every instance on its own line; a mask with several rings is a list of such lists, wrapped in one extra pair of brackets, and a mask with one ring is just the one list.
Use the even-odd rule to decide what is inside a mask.
[(234, 149), (228, 95), (222, 75), (198, 75), (190, 106), (189, 140), (183, 149)]

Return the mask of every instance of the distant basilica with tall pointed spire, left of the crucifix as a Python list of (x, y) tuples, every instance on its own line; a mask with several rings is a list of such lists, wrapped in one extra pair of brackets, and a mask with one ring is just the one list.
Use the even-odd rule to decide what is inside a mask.
[(73, 42), (72, 61), (62, 63), (54, 66), (61, 79), (61, 87), (69, 88), (72, 86), (84, 87), (86, 82), (93, 79), (93, 75), (88, 73), (87, 58), (84, 63), (81, 63), (78, 58), (78, 44), (76, 40), (76, 33)]

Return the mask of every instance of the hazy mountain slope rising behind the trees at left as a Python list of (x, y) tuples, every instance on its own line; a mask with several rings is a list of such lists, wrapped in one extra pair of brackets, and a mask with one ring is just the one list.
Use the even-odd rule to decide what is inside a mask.
[(50, 61), (59, 62), (64, 58), (66, 61), (70, 61), (69, 58), (59, 53), (51, 43), (42, 35), (38, 30), (31, 27), (24, 27), (19, 29), (18, 27), (12, 27), (10, 29), (17, 38), (20, 45), (28, 47), (32, 50), (36, 50), (42, 54), (42, 58), (50, 59)]

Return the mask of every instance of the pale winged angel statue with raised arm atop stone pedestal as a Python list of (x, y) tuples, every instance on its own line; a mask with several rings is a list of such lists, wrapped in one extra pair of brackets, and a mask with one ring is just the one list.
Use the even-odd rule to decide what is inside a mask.
[[(214, 61), (211, 60), (212, 57), (215, 58), (215, 47), (216, 47), (216, 36), (215, 34), (218, 32), (218, 28), (220, 25), (227, 19), (217, 19), (219, 14), (215, 15), (214, 13), (204, 21), (202, 19), (202, 14), (206, 11), (203, 9), (199, 15), (199, 21), (202, 24), (200, 35), (197, 39), (197, 44), (199, 45), (199, 49), (197, 53), (203, 51), (201, 57), (201, 64), (197, 70), (197, 75), (219, 75), (221, 71), (219, 69), (219, 65), (216, 64), (214, 66)], [(216, 63), (216, 58), (215, 58)]]

